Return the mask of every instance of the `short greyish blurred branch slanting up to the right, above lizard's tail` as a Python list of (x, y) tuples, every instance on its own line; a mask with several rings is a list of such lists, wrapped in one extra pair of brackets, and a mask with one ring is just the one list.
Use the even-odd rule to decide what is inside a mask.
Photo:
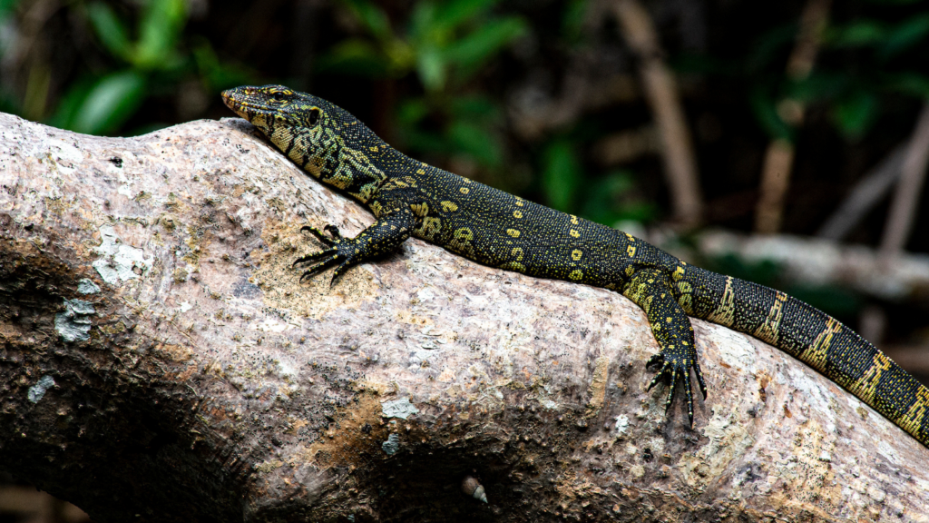
[(877, 167), (872, 168), (855, 184), (839, 208), (819, 227), (816, 235), (835, 241), (840, 241), (848, 235), (870, 210), (890, 193), (891, 187), (900, 177), (906, 154), (907, 144), (898, 145), (887, 154)]

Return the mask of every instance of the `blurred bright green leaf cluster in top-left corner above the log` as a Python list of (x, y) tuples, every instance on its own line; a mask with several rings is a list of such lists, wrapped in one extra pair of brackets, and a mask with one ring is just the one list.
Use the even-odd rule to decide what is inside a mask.
[[(0, 2), (0, 20), (20, 4), (19, 0)], [(21, 104), (7, 96), (7, 110), (55, 127), (108, 135), (125, 132), (126, 122), (151, 96), (177, 90), (191, 80), (215, 96), (223, 88), (255, 77), (242, 67), (220, 63), (205, 39), (184, 34), (189, 18), (186, 0), (143, 0), (134, 24), (110, 4), (97, 0), (74, 2), (65, 8), (88, 22), (108, 65), (80, 74), (54, 107), (46, 107), (47, 73), (38, 78), (30, 74), (27, 96)], [(43, 69), (33, 66), (33, 70)], [(138, 130), (163, 125), (155, 122)]]

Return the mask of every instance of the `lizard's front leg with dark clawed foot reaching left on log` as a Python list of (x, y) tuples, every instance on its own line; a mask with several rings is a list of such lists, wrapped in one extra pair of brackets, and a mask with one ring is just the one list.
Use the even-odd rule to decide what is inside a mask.
[(309, 225), (300, 229), (316, 236), (328, 247), (294, 262), (294, 266), (306, 262), (315, 263), (300, 276), (300, 281), (335, 266), (332, 279), (334, 282), (335, 278), (344, 274), (349, 267), (386, 254), (398, 248), (410, 237), (415, 223), (415, 215), (410, 206), (397, 199), (376, 203), (383, 209), (378, 213), (377, 221), (354, 238), (343, 237), (334, 225), (326, 225), (323, 228), (323, 231), (329, 234), (328, 236), (324, 235), (323, 231)]

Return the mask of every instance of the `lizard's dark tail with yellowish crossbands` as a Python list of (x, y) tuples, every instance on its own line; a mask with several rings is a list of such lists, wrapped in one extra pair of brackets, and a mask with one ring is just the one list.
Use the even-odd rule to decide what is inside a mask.
[(683, 278), (692, 288), (689, 296), (682, 293), (685, 310), (793, 355), (929, 448), (929, 389), (877, 347), (783, 292), (702, 269), (696, 273)]

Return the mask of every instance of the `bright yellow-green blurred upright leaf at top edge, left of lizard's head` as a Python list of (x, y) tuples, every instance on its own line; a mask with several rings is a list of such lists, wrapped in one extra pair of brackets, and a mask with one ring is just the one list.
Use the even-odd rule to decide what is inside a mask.
[(139, 20), (133, 63), (142, 69), (172, 67), (180, 32), (186, 23), (185, 0), (149, 0)]

